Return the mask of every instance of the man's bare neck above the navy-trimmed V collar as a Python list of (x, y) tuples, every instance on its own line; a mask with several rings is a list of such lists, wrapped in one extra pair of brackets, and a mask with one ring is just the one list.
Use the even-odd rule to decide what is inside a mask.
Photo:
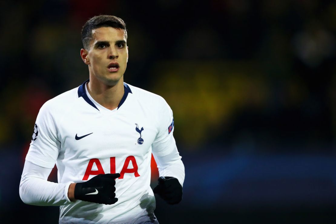
[(110, 110), (118, 107), (125, 92), (123, 77), (114, 86), (103, 84), (97, 79), (90, 79), (86, 87), (97, 103)]

